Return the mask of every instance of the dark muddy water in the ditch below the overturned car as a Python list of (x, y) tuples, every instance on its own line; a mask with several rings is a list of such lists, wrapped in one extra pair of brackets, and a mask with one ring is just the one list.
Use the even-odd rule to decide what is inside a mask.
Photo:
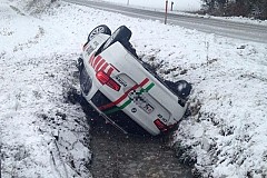
[(101, 118), (91, 128), (95, 178), (191, 178), (166, 137), (126, 136)]

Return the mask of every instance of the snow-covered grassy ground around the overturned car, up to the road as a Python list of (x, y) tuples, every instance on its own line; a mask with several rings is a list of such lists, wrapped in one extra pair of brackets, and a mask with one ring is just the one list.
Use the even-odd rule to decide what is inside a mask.
[(1, 175), (90, 177), (89, 126), (67, 99), (89, 31), (126, 24), (142, 60), (192, 83), (191, 116), (174, 134), (204, 177), (267, 176), (267, 43), (58, 2), (0, 2)]

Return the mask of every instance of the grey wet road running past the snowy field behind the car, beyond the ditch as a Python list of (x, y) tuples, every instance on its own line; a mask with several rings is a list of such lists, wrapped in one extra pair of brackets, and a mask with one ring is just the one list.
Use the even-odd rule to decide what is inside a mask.
[[(90, 0), (65, 0), (96, 9), (118, 12), (134, 18), (165, 21), (165, 13), (145, 9), (135, 9), (107, 2)], [(168, 14), (168, 23), (196, 29), (207, 33), (216, 33), (224, 37), (248, 40), (253, 42), (267, 43), (267, 26), (234, 22), (210, 18), (190, 17), (181, 14)]]

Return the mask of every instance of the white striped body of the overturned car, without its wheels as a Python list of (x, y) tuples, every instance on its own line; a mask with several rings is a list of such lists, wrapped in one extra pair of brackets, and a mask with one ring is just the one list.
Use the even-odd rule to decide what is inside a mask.
[[(109, 37), (99, 33), (83, 47), (83, 69), (91, 83), (82, 96), (103, 118), (125, 132), (130, 127), (140, 126), (156, 136), (175, 126), (187, 105), (147, 71), (120, 42), (95, 56)], [(100, 82), (108, 80), (107, 77), (112, 81)], [(113, 89), (118, 85), (119, 90)]]

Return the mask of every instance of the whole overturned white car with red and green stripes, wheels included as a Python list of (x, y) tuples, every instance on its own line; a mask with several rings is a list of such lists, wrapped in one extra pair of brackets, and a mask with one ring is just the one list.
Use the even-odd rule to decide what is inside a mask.
[(125, 26), (112, 34), (105, 24), (89, 33), (78, 59), (82, 96), (123, 132), (156, 136), (182, 118), (191, 86), (185, 80), (164, 81), (150, 72), (130, 37)]

